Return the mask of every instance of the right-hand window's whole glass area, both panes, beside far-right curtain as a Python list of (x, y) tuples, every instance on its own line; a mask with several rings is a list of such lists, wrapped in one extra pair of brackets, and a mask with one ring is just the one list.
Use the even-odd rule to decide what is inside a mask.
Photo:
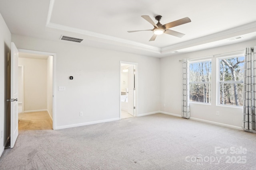
[(218, 59), (218, 104), (243, 106), (244, 56)]

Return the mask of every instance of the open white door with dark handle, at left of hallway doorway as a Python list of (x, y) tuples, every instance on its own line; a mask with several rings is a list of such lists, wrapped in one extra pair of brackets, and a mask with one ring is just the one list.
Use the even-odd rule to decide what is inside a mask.
[(11, 45), (11, 148), (18, 137), (18, 49)]

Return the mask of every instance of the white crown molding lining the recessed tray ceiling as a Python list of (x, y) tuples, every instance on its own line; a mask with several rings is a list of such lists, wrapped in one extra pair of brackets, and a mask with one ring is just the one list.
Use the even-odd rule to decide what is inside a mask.
[(49, 11), (48, 11), (48, 16), (47, 16), (47, 20), (46, 20), (46, 27), (48, 27), (50, 29), (56, 29), (56, 30), (68, 31), (68, 32), (72, 32), (72, 33), (78, 33), (81, 35), (86, 35), (87, 36), (86, 39), (92, 40), (92, 41), (98, 41), (98, 42), (102, 42), (102, 43), (118, 45), (120, 47), (125, 47), (125, 48), (130, 48), (130, 49), (138, 49), (138, 50), (154, 53), (155, 55), (157, 55), (159, 57), (166, 56), (166, 55), (168, 55), (168, 53), (171, 53), (172, 51), (177, 51), (180, 49), (194, 47), (194, 46), (198, 46), (198, 45), (202, 45), (202, 44), (206, 44), (206, 43), (212, 43), (214, 41), (228, 39), (231, 37), (235, 37), (237, 35), (256, 32), (256, 21), (255, 21), (252, 23), (248, 23), (246, 25), (238, 26), (238, 27), (224, 30), (224, 31), (221, 31), (218, 33), (206, 35), (204, 37), (199, 37), (196, 39), (191, 39), (191, 40), (177, 43), (174, 45), (159, 48), (159, 47), (147, 45), (144, 43), (138, 43), (136, 41), (130, 41), (127, 39), (122, 39), (122, 38), (118, 38), (118, 37), (95, 33), (92, 31), (86, 31), (84, 29), (78, 29), (78, 28), (74, 28), (74, 27), (68, 27), (66, 25), (52, 23), (51, 17), (52, 17), (52, 11), (54, 9), (54, 2), (55, 2), (55, 0), (50, 0)]

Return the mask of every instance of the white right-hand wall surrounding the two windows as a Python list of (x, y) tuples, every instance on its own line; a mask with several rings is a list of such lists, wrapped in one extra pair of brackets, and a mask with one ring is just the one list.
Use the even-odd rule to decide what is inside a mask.
[[(243, 50), (246, 47), (254, 47), (255, 45), (256, 40), (252, 40), (244, 43), (236, 43), (233, 45), (162, 58), (160, 60), (160, 110), (166, 113), (181, 115), (182, 59), (230, 53)], [(212, 80), (216, 80), (216, 57), (212, 57), (211, 59)], [(181, 60), (181, 62), (179, 62), (179, 60)], [(216, 111), (220, 112), (220, 116), (216, 115)], [(191, 117), (235, 127), (242, 126), (242, 111), (242, 108), (216, 106), (216, 83), (212, 83), (212, 104), (210, 106), (203, 104), (190, 104)]]

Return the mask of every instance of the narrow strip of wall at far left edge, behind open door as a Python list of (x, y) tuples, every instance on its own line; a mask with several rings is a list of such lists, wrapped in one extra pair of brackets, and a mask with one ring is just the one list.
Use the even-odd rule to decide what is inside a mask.
[(10, 132), (10, 117), (8, 118), (7, 106), (7, 58), (10, 57), (11, 33), (0, 14), (0, 156)]

